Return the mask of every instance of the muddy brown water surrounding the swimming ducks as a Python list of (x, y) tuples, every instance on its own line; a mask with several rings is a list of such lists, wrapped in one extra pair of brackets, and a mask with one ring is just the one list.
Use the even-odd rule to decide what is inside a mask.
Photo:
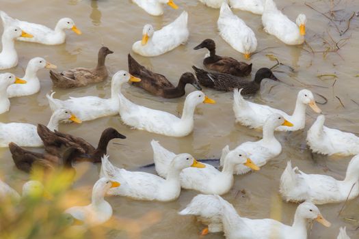
[[(292, 72), (287, 66), (276, 68), (276, 76), (282, 83), (263, 81), (261, 92), (252, 97), (255, 102), (262, 102), (277, 107), (290, 113), (295, 104), (295, 96), (300, 89), (308, 88), (316, 93), (318, 102), (323, 102), (317, 94), (328, 99), (328, 102), (319, 105), (327, 116), (326, 124), (330, 127), (359, 132), (359, 102), (357, 89), (358, 78), (358, 49), (359, 49), (359, 18), (354, 16), (350, 29), (343, 36), (339, 36), (334, 25), (329, 25), (328, 18), (311, 10), (303, 1), (277, 0), (278, 7), (292, 20), (297, 14), (304, 13), (308, 17), (306, 40), (313, 51), (325, 51), (330, 36), (334, 41), (342, 38), (350, 38), (338, 53), (310, 53), (308, 46), (285, 46), (273, 36), (267, 35), (261, 26), (260, 16), (235, 10), (245, 22), (252, 27), (258, 39), (258, 50), (264, 51), (252, 56), (254, 72), (261, 67), (270, 67), (276, 64), (266, 55), (274, 55), (279, 61), (294, 69)], [(331, 8), (330, 1), (310, 1), (321, 12), (328, 12)], [(335, 3), (338, 1), (334, 1)], [(59, 70), (65, 70), (75, 66), (90, 67), (96, 64), (96, 54), (101, 44), (108, 46), (115, 52), (109, 55), (107, 66), (111, 75), (121, 69), (127, 69), (127, 53), (131, 52), (131, 45), (141, 38), (142, 27), (146, 23), (152, 23), (155, 29), (170, 23), (183, 10), (189, 12), (189, 29), (191, 35), (187, 45), (180, 46), (174, 51), (160, 57), (144, 58), (133, 53), (135, 59), (148, 66), (155, 72), (161, 72), (173, 82), (178, 81), (183, 72), (191, 71), (191, 66), (202, 66), (202, 58), (205, 51), (193, 51), (192, 48), (204, 38), (213, 38), (217, 43), (217, 51), (220, 55), (228, 55), (242, 59), (242, 55), (234, 51), (226, 42), (217, 35), (216, 21), (218, 10), (207, 8), (196, 0), (177, 0), (179, 10), (165, 8), (163, 16), (155, 17), (146, 14), (137, 5), (129, 0), (123, 1), (20, 1), (1, 0), (1, 10), (8, 12), (10, 16), (55, 26), (57, 20), (69, 16), (77, 27), (83, 31), (83, 35), (77, 36), (68, 32), (66, 44), (59, 46), (43, 46), (40, 44), (28, 44), (17, 42), (16, 48), (19, 55), (19, 65), (9, 70), (18, 76), (23, 76), (27, 61), (32, 57), (44, 57), (56, 64)], [(36, 9), (36, 10), (35, 10)], [(351, 11), (359, 9), (356, 0), (343, 0), (333, 10), (338, 19), (347, 19)], [(330, 14), (330, 13), (328, 13)], [(346, 22), (335, 22), (339, 29), (347, 27)], [(330, 36), (328, 36), (328, 33)], [(343, 42), (342, 42), (343, 43)], [(334, 46), (335, 47), (335, 46)], [(326, 76), (318, 78), (320, 74), (335, 74), (336, 78)], [(66, 99), (68, 96), (101, 96), (109, 97), (110, 81), (98, 85), (90, 85), (81, 89), (62, 90), (52, 87), (47, 70), (39, 72), (42, 89), (34, 96), (13, 98), (11, 111), (0, 115), (1, 122), (29, 122), (46, 124), (51, 111), (45, 94), (51, 89), (55, 90), (57, 98)], [(254, 76), (254, 74), (252, 75)], [(333, 86), (334, 85), (334, 86)], [(191, 86), (187, 92), (194, 91)], [(185, 98), (163, 100), (142, 89), (125, 85), (124, 94), (133, 102), (146, 107), (161, 109), (170, 113), (181, 113)], [(215, 105), (200, 105), (196, 110), (194, 132), (181, 139), (163, 137), (149, 132), (131, 130), (120, 122), (119, 117), (105, 117), (81, 125), (62, 125), (60, 130), (83, 137), (96, 145), (101, 132), (109, 127), (117, 128), (122, 134), (127, 135), (126, 140), (115, 140), (110, 143), (109, 154), (112, 162), (118, 167), (133, 169), (139, 165), (152, 162), (152, 150), (150, 140), (156, 139), (169, 150), (176, 153), (188, 152), (196, 158), (218, 158), (222, 148), (228, 144), (235, 147), (244, 141), (256, 140), (261, 137), (261, 132), (249, 130), (235, 124), (232, 112), (232, 93), (215, 92), (204, 89), (204, 92), (217, 100)], [(341, 102), (338, 98), (341, 99)], [(250, 218), (275, 218), (290, 224), (293, 220), (296, 205), (284, 203), (278, 197), (278, 184), (280, 175), (287, 165), (287, 160), (292, 160), (302, 171), (308, 173), (323, 173), (343, 179), (350, 157), (327, 158), (310, 154), (306, 149), (306, 130), (317, 117), (313, 111), (307, 110), (306, 128), (299, 132), (278, 132), (276, 137), (282, 142), (283, 152), (265, 165), (261, 171), (244, 176), (235, 177), (235, 186), (224, 198), (235, 205), (241, 215)], [(27, 175), (14, 167), (10, 153), (7, 149), (0, 150), (0, 171), (7, 182), (15, 188), (21, 188), (21, 184), (27, 180)], [(83, 165), (82, 165), (83, 166)], [(81, 165), (77, 168), (81, 168)], [(86, 186), (89, 190), (98, 179), (98, 168), (94, 165), (85, 165), (87, 171), (75, 184), (75, 188)], [(243, 191), (244, 190), (244, 191)], [(112, 197), (109, 199), (116, 216), (138, 219), (147, 212), (153, 210), (161, 213), (161, 220), (148, 229), (142, 231), (142, 238), (198, 238), (198, 231), (202, 225), (189, 217), (177, 215), (197, 193), (183, 191), (181, 197), (172, 203), (153, 203), (133, 201), (131, 199)], [(90, 198), (90, 191), (88, 197)], [(322, 214), (332, 227), (325, 228), (315, 223), (310, 233), (310, 238), (336, 238), (338, 228), (347, 226), (351, 238), (358, 238), (359, 232), (355, 231), (359, 220), (359, 199), (350, 201), (338, 216), (343, 203), (319, 206)], [(347, 219), (353, 219), (351, 221)], [(112, 231), (109, 238), (127, 238), (127, 234)], [(220, 234), (212, 234), (207, 238), (223, 238)]]

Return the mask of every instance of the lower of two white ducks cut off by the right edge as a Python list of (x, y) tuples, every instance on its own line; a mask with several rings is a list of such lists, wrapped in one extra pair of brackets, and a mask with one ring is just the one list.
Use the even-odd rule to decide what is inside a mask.
[[(338, 203), (359, 195), (359, 155), (351, 158), (344, 180), (328, 175), (306, 174), (291, 161), (280, 177), (280, 194), (286, 201), (310, 200), (315, 204)], [(350, 192), (350, 194), (349, 194)]]

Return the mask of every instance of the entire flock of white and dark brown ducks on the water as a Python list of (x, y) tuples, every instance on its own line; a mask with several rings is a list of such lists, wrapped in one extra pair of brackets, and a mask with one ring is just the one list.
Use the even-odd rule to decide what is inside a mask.
[[(276, 36), (285, 44), (302, 44), (304, 42), (306, 16), (300, 14), (293, 23), (282, 14), (273, 0), (200, 0), (211, 8), (220, 8), (217, 27), (220, 36), (232, 48), (243, 53), (245, 59), (256, 51), (257, 41), (254, 31), (245, 22), (232, 13), (230, 8), (250, 11), (262, 15), (262, 22), (267, 33)], [(163, 4), (176, 9), (172, 0), (133, 0), (149, 14), (163, 14)], [(229, 5), (228, 5), (229, 4)], [(66, 39), (65, 29), (72, 29), (77, 34), (75, 23), (70, 18), (59, 20), (55, 29), (27, 23), (11, 18), (0, 12), (3, 22), (0, 53), (0, 70), (12, 68), (18, 64), (14, 41), (37, 42), (40, 44), (63, 44)], [(185, 44), (189, 37), (187, 29), (187, 12), (183, 12), (174, 22), (154, 30), (152, 25), (145, 25), (142, 40), (133, 44), (133, 51), (139, 55), (153, 57), (172, 51), (180, 44)], [(240, 216), (235, 208), (220, 197), (230, 191), (234, 174), (245, 174), (258, 171), (266, 163), (282, 152), (282, 145), (276, 139), (276, 131), (301, 130), (306, 122), (306, 108), (309, 106), (316, 113), (317, 107), (313, 93), (302, 89), (297, 94), (293, 113), (289, 115), (280, 109), (265, 104), (256, 104), (245, 100), (243, 95), (256, 94), (263, 79), (278, 81), (268, 68), (256, 72), (253, 81), (243, 79), (252, 71), (252, 64), (237, 61), (231, 57), (216, 55), (215, 42), (206, 39), (194, 49), (207, 48), (209, 53), (204, 57), (203, 65), (211, 70), (202, 70), (193, 66), (194, 74), (185, 72), (174, 86), (162, 74), (152, 72), (140, 65), (128, 55), (129, 71), (120, 70), (112, 76), (111, 97), (84, 96), (70, 97), (66, 100), (54, 98), (55, 92), (47, 94), (49, 107), (53, 112), (49, 124), (38, 126), (23, 123), (0, 123), (0, 147), (10, 147), (14, 163), (18, 169), (30, 172), (34, 165), (46, 170), (56, 167), (72, 167), (72, 163), (89, 160), (102, 163), (100, 179), (92, 190), (92, 203), (88, 206), (75, 206), (65, 212), (75, 219), (83, 221), (85, 227), (100, 225), (112, 215), (111, 205), (105, 201), (105, 195), (121, 195), (138, 200), (173, 201), (178, 198), (181, 188), (199, 191), (189, 205), (181, 210), (181, 215), (194, 215), (208, 225), (202, 234), (223, 231), (226, 238), (307, 238), (307, 223), (316, 220), (326, 227), (330, 223), (324, 219), (315, 204), (339, 203), (353, 199), (359, 194), (359, 156), (351, 159), (345, 180), (340, 181), (328, 175), (306, 174), (297, 167), (287, 164), (280, 178), (280, 194), (286, 201), (299, 202), (294, 215), (293, 225), (284, 225), (272, 219), (248, 219)], [(107, 79), (105, 66), (107, 55), (114, 53), (103, 46), (98, 51), (95, 68), (74, 68), (63, 72), (50, 71), (56, 87), (82, 87)], [(29, 61), (25, 76), (22, 79), (14, 74), (0, 74), (0, 113), (10, 111), (12, 97), (29, 96), (40, 90), (40, 81), (36, 72), (43, 68), (55, 69), (56, 66), (41, 57)], [(150, 94), (163, 98), (179, 98), (185, 95), (185, 85), (193, 85), (197, 91), (185, 98), (181, 117), (165, 111), (150, 109), (131, 102), (122, 94), (122, 85), (141, 87)], [(165, 149), (158, 141), (152, 140), (153, 159), (158, 175), (142, 171), (120, 169), (109, 160), (107, 144), (111, 139), (125, 139), (114, 128), (103, 131), (98, 146), (94, 147), (85, 139), (59, 132), (62, 122), (82, 122), (120, 115), (122, 122), (137, 130), (146, 130), (169, 137), (184, 137), (194, 130), (194, 112), (198, 105), (215, 104), (215, 100), (201, 92), (202, 87), (219, 91), (233, 92), (233, 111), (236, 122), (263, 130), (259, 141), (241, 143), (230, 150), (228, 145), (222, 150), (220, 166), (222, 170), (204, 162), (198, 162), (186, 153), (175, 154)], [(324, 126), (325, 116), (319, 115), (308, 130), (307, 143), (313, 152), (325, 155), (349, 156), (358, 154), (359, 138), (349, 132), (342, 132)], [(44, 147), (45, 153), (39, 154), (22, 147)], [(39, 189), (40, 188), (40, 189)], [(39, 191), (42, 184), (29, 181), (23, 186), (20, 196), (8, 184), (0, 181), (0, 197), (12, 197), (18, 201), (31, 192)], [(340, 229), (338, 238), (349, 238), (345, 228)]]

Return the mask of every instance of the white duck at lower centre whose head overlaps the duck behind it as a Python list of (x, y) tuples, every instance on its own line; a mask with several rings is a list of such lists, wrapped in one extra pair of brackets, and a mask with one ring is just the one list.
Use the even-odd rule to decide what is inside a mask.
[(187, 167), (204, 168), (190, 154), (178, 154), (173, 158), (168, 176), (163, 179), (157, 175), (145, 172), (133, 172), (114, 167), (108, 156), (103, 156), (101, 176), (120, 180), (121, 188), (111, 189), (109, 195), (121, 195), (137, 200), (173, 201), (181, 193), (180, 173)]

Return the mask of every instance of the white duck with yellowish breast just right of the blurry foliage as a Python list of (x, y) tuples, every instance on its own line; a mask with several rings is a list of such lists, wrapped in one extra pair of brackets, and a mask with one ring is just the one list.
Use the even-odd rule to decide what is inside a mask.
[(111, 181), (108, 178), (100, 178), (92, 188), (92, 200), (88, 206), (75, 206), (65, 210), (75, 219), (83, 221), (88, 227), (101, 225), (111, 219), (112, 207), (105, 201), (104, 197), (110, 188), (118, 188), (119, 182)]

